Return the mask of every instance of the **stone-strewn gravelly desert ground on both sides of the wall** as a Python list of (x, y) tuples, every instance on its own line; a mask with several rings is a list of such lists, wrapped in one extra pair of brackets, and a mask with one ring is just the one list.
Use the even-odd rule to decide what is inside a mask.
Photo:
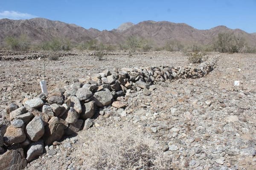
[[(51, 61), (47, 52), (1, 52), (0, 119), (8, 117), (9, 103), (41, 94), (44, 63), (48, 91), (104, 70), (196, 65), (190, 65), (181, 52), (130, 56), (115, 51), (102, 58), (93, 53), (63, 52), (57, 61)], [(131, 164), (123, 163), (124, 158), (135, 160), (134, 164), (152, 159), (155, 166), (151, 169), (156, 170), (256, 169), (256, 55), (206, 55), (218, 60), (205, 77), (166, 80), (151, 85), (150, 95), (134, 91), (117, 98), (126, 107), (100, 109), (91, 119), (92, 127), (45, 147), (25, 169), (129, 169)], [(234, 86), (235, 80), (240, 81), (239, 86)], [(135, 155), (143, 155), (145, 160)]]

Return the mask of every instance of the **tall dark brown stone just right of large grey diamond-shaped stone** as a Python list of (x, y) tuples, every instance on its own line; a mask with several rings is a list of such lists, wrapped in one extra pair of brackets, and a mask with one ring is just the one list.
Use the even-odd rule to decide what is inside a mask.
[(67, 128), (67, 122), (58, 117), (52, 117), (48, 124), (44, 127), (44, 142), (45, 144), (52, 144), (62, 138), (64, 130)]

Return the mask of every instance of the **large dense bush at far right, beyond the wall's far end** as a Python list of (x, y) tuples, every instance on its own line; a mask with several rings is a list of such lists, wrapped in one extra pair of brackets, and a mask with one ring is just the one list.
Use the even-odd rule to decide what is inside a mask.
[(244, 38), (236, 37), (230, 32), (218, 34), (214, 48), (221, 53), (238, 53), (245, 46)]

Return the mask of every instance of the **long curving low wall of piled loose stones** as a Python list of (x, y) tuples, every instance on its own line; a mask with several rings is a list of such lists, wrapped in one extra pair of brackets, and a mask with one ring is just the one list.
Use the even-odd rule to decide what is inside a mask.
[[(112, 73), (105, 70), (95, 77), (74, 81), (55, 89), (48, 96), (25, 98), (22, 103), (11, 103), (6, 108), (7, 120), (0, 121), (0, 162), (12, 158), (14, 146), (19, 148), (16, 161), (31, 161), (41, 155), (44, 147), (61, 140), (64, 135), (77, 133), (93, 125), (90, 118), (97, 108), (123, 107), (114, 102), (117, 97), (143, 91), (150, 95), (150, 86), (169, 79), (200, 78), (215, 68), (216, 58), (192, 67), (122, 68)], [(114, 102), (114, 103), (113, 103)], [(12, 150), (12, 151), (10, 151)], [(23, 150), (26, 154), (23, 153)], [(15, 162), (12, 164), (16, 164)], [(4, 169), (6, 167), (1, 167)], [(4, 165), (3, 165), (4, 166)]]

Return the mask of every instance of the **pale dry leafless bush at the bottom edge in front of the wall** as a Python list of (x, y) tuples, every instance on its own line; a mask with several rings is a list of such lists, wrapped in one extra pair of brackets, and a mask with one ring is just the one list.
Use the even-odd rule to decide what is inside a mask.
[[(171, 159), (129, 127), (101, 127), (86, 134), (84, 166), (90, 170), (172, 170)], [(91, 137), (90, 137), (91, 136)], [(162, 153), (163, 154), (163, 153)]]

